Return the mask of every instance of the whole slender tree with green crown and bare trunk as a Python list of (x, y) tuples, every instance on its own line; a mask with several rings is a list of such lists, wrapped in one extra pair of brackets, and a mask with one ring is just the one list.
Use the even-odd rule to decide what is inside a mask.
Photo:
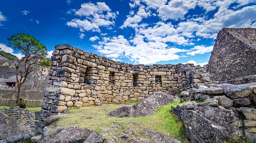
[[(15, 64), (17, 80), (17, 106), (20, 105), (21, 86), (24, 84), (28, 75), (34, 71), (34, 65), (40, 65), (46, 59), (47, 48), (39, 40), (25, 33), (18, 33), (7, 38), (8, 46), (18, 50), (25, 55)], [(19, 68), (24, 68), (20, 70)], [(20, 76), (20, 79), (19, 79)]]

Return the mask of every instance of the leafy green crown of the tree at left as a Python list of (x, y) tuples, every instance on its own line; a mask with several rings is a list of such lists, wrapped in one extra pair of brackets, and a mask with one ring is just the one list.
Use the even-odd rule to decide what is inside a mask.
[(15, 50), (21, 51), (25, 58), (41, 58), (44, 59), (47, 55), (47, 48), (41, 44), (39, 40), (25, 33), (18, 33), (7, 38), (8, 46)]

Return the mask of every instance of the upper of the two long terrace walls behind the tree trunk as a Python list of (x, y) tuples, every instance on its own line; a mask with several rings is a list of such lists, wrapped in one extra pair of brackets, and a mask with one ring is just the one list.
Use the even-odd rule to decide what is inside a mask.
[[(21, 98), (25, 100), (43, 100), (44, 91), (21, 90)], [(0, 99), (16, 99), (17, 90), (0, 89)]]

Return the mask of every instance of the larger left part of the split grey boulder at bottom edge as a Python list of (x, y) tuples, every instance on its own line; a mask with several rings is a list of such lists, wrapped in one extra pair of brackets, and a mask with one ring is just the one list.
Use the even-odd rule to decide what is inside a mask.
[(44, 134), (38, 143), (81, 143), (89, 136), (91, 131), (87, 128), (66, 127)]

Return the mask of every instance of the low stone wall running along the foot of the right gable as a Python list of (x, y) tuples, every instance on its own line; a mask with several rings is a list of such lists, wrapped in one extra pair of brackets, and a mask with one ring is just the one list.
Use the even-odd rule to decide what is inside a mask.
[(249, 75), (245, 77), (235, 78), (231, 80), (227, 80), (219, 83), (230, 83), (230, 84), (245, 84), (245, 83), (253, 83), (256, 82), (256, 75)]

